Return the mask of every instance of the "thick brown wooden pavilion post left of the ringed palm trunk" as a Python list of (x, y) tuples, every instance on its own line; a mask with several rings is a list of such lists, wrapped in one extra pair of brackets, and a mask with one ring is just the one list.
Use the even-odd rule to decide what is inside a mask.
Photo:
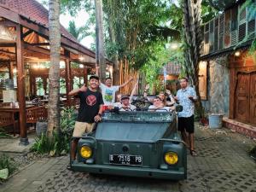
[(18, 71), (18, 101), (19, 101), (19, 119), (20, 119), (20, 144), (27, 145), (28, 139), (26, 136), (26, 99), (25, 99), (25, 73), (23, 61), (23, 41), (21, 38), (22, 27), (16, 27), (16, 53), (17, 53), (17, 71)]

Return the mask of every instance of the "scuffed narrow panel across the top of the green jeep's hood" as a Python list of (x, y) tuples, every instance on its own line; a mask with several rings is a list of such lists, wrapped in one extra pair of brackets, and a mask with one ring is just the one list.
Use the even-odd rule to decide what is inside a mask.
[(122, 121), (122, 122), (172, 122), (173, 113), (169, 112), (119, 112), (103, 113), (102, 121)]

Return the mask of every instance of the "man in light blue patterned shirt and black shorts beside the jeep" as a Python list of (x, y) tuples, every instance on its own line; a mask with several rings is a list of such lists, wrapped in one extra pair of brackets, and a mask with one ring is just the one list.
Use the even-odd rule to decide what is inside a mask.
[(189, 86), (189, 80), (187, 78), (182, 78), (179, 81), (181, 89), (177, 90), (177, 96), (174, 99), (183, 106), (183, 111), (178, 113), (178, 130), (181, 131), (183, 141), (188, 144), (189, 133), (189, 148), (190, 154), (192, 156), (197, 155), (194, 148), (194, 111), (195, 102), (197, 96), (195, 89)]

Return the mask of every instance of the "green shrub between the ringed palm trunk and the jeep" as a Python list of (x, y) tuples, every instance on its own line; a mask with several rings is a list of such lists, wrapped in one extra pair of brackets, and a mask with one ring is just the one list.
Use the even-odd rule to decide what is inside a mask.
[(64, 108), (61, 111), (61, 129), (60, 133), (53, 133), (50, 139), (45, 134), (36, 138), (32, 145), (32, 151), (38, 154), (48, 154), (50, 156), (59, 156), (67, 154), (70, 150), (70, 141), (73, 135), (76, 113), (75, 108)]

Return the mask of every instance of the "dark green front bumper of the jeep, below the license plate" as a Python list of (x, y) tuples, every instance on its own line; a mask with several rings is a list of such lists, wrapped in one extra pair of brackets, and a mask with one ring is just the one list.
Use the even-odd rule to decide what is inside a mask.
[(170, 180), (183, 180), (187, 178), (185, 168), (178, 170), (150, 169), (138, 166), (113, 166), (113, 165), (95, 165), (73, 162), (71, 165), (73, 172), (91, 172), (110, 175), (122, 175), (131, 177), (154, 177)]

